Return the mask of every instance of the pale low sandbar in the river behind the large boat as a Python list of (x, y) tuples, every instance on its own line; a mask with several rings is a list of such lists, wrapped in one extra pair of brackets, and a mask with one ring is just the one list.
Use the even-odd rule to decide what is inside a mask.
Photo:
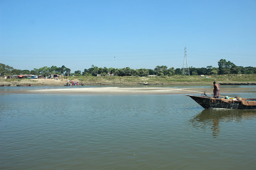
[[(173, 89), (173, 90), (172, 90)], [(176, 89), (176, 90), (175, 90)], [(187, 92), (187, 91), (196, 92)], [(253, 92), (254, 88), (221, 88), (221, 93)], [(212, 88), (167, 88), (167, 87), (88, 87), (88, 88), (56, 88), (27, 91), (4, 91), (0, 93), (44, 93), (44, 94), (195, 94), (204, 92), (212, 94)], [(200, 94), (200, 93), (198, 93)]]

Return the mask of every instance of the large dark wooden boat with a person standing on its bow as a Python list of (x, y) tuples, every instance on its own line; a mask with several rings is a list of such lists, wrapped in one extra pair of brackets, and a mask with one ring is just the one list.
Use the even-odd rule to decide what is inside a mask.
[(240, 100), (231, 99), (216, 99), (205, 96), (186, 95), (195, 100), (200, 106), (204, 108), (226, 108), (226, 109), (256, 109), (256, 98)]

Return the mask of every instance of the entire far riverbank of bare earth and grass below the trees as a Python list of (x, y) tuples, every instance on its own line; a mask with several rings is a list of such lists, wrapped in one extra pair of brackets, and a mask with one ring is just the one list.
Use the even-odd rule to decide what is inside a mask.
[(0, 85), (32, 85), (32, 86), (63, 86), (67, 80), (77, 81), (83, 85), (140, 85), (163, 84), (163, 85), (212, 85), (217, 83), (256, 83), (256, 75), (225, 76), (216, 75), (209, 78), (200, 76), (156, 76), (156, 77), (136, 77), (136, 76), (104, 76), (104, 77), (68, 77), (68, 79), (4, 79), (0, 78)]

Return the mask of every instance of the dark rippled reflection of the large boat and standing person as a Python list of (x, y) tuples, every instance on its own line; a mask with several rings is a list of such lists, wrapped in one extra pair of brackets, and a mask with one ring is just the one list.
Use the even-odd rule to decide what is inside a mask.
[(211, 127), (212, 136), (217, 137), (220, 133), (221, 122), (241, 122), (243, 119), (255, 119), (256, 110), (229, 110), (229, 109), (204, 109), (188, 122), (193, 128)]

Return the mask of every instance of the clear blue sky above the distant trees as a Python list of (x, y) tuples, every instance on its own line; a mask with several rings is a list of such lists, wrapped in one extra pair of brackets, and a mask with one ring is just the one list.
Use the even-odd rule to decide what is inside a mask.
[(0, 63), (15, 69), (176, 69), (185, 46), (189, 67), (256, 67), (256, 1), (0, 0)]

